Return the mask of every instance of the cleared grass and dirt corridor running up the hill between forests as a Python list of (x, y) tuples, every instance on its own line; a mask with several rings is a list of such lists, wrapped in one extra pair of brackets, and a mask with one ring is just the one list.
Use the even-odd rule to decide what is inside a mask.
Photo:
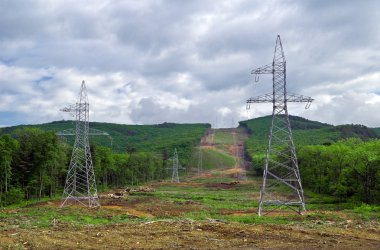
[(201, 143), (201, 174), (109, 191), (98, 209), (59, 209), (60, 200), (1, 209), (0, 248), (380, 249), (378, 212), (324, 197), (306, 193), (303, 216), (258, 217), (261, 178), (247, 173), (246, 136), (241, 129), (210, 129)]

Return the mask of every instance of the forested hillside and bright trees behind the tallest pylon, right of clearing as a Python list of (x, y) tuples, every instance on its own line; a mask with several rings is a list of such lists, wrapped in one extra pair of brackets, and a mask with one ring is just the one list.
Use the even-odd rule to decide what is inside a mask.
[[(337, 202), (380, 203), (380, 138), (378, 128), (309, 121), (290, 116), (302, 183)], [(250, 133), (246, 155), (251, 173), (262, 175), (271, 116), (240, 122)]]

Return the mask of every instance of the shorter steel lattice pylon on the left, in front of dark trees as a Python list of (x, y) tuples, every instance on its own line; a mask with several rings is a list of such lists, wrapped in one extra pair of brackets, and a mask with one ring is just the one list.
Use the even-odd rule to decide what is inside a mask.
[(82, 81), (78, 102), (62, 109), (63, 112), (75, 112), (76, 126), (61, 207), (75, 203), (100, 206), (89, 143), (89, 106), (86, 85)]

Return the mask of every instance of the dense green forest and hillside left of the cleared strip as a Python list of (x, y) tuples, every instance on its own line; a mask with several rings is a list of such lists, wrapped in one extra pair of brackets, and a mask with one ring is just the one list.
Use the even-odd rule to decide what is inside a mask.
[[(166, 178), (174, 148), (181, 165), (187, 167), (194, 147), (210, 127), (208, 124), (172, 123), (96, 124), (116, 135), (114, 141), (118, 149), (112, 149), (105, 138), (90, 140), (100, 190)], [(67, 129), (68, 125), (72, 123), (54, 122), (1, 130), (0, 205), (62, 194), (72, 140), (63, 140), (56, 132)]]

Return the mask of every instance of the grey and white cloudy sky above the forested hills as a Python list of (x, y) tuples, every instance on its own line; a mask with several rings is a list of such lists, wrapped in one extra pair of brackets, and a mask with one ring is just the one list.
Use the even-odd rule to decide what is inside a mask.
[(86, 81), (90, 119), (230, 127), (271, 92), (253, 68), (277, 34), (288, 92), (315, 99), (289, 112), (380, 126), (380, 1), (1, 0), (0, 126), (71, 119)]

